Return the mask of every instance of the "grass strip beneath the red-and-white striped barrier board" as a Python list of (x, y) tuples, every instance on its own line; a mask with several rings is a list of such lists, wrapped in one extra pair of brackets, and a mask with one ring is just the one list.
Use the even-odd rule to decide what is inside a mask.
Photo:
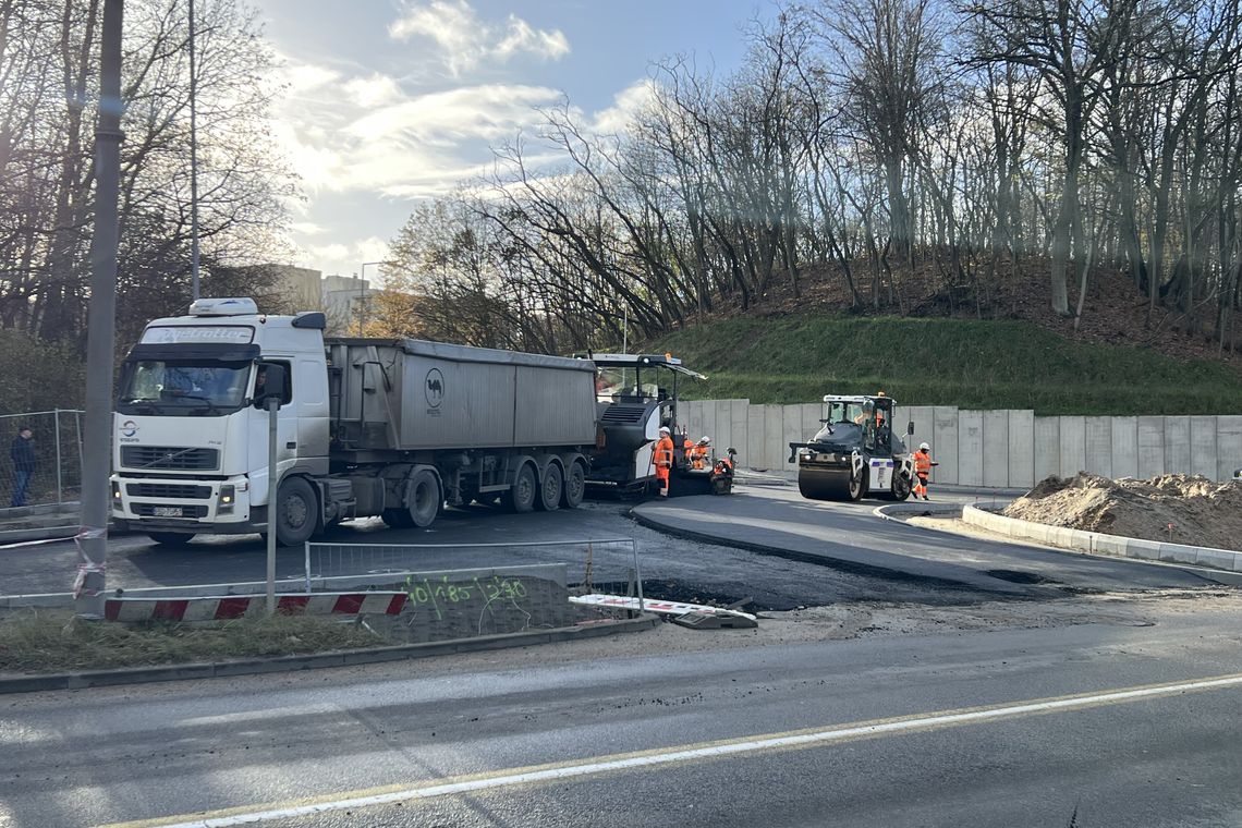
[(220, 662), (390, 643), (365, 627), (308, 616), (127, 624), (82, 621), (70, 610), (25, 610), (0, 619), (0, 673)]

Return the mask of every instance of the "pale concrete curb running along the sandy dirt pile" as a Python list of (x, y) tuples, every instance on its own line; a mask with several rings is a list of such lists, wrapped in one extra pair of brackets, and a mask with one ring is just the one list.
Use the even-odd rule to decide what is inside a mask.
[(966, 505), (961, 509), (961, 519), (1010, 538), (1036, 540), (1049, 546), (1071, 549), (1088, 555), (1110, 555), (1140, 561), (1159, 561), (1161, 564), (1181, 564), (1203, 569), (1242, 572), (1242, 552), (1228, 549), (1206, 546), (1187, 546), (1184, 544), (1161, 544), (1153, 540), (1104, 535), (1097, 531), (1082, 531), (1063, 526), (1049, 526), (1017, 518), (1006, 518), (986, 509)]

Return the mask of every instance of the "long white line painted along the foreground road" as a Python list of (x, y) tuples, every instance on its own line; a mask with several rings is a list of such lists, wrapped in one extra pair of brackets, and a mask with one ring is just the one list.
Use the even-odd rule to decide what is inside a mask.
[(1177, 695), (1202, 690), (1216, 690), (1242, 685), (1242, 674), (1223, 675), (1211, 679), (1199, 679), (1177, 684), (1161, 684), (1151, 686), (1130, 688), (1125, 690), (1113, 690), (1089, 695), (1066, 696), (1059, 699), (1045, 699), (1020, 704), (997, 705), (990, 708), (976, 708), (963, 711), (950, 711), (930, 714), (924, 716), (908, 716), (893, 720), (879, 720), (862, 722), (858, 725), (835, 727), (831, 730), (794, 731), (785, 734), (773, 734), (769, 736), (751, 737), (739, 741), (728, 741), (691, 747), (667, 747), (650, 751), (642, 755), (621, 755), (617, 757), (601, 757), (596, 761), (558, 767), (545, 767), (530, 771), (518, 771), (512, 773), (499, 773), (482, 778), (465, 780), (460, 782), (446, 782), (442, 785), (424, 785), (389, 791), (369, 796), (353, 796), (340, 799), (314, 802), (308, 804), (296, 804), (288, 807), (274, 807), (263, 811), (251, 812), (217, 812), (202, 814), (184, 822), (169, 822), (170, 819), (185, 819), (181, 817), (169, 817), (166, 819), (144, 819), (137, 822), (117, 823), (112, 828), (231, 828), (232, 826), (248, 826), (273, 819), (289, 819), (307, 817), (334, 811), (347, 811), (355, 808), (368, 808), (394, 802), (407, 802), (411, 799), (430, 799), (433, 797), (451, 796), (455, 793), (471, 793), (474, 791), (487, 791), (492, 788), (514, 787), (533, 782), (549, 782), (611, 771), (623, 771), (641, 767), (653, 767), (658, 765), (672, 765), (694, 760), (710, 760), (744, 754), (755, 754), (766, 750), (787, 747), (810, 747), (825, 745), (848, 739), (902, 734), (907, 731), (925, 730), (932, 727), (953, 727), (966, 724), (984, 722), (996, 719), (1015, 718), (1030, 714), (1043, 714), (1064, 710), (1078, 710), (1083, 708), (1119, 704), (1125, 701), (1138, 701), (1141, 699), (1155, 699), (1161, 696)]

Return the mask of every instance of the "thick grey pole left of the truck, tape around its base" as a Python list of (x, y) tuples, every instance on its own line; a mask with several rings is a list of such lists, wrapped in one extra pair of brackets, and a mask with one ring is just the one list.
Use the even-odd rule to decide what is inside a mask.
[(103, 618), (112, 473), (112, 360), (117, 326), (117, 197), (120, 185), (122, 0), (103, 2), (99, 118), (94, 128), (94, 236), (91, 240), (91, 309), (87, 319), (86, 433), (82, 519), (77, 534), (75, 611)]

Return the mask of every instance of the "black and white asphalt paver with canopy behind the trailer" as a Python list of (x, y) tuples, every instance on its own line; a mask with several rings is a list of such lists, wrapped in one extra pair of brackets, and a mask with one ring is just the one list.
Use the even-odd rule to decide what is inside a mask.
[[(599, 431), (590, 451), (586, 484), (596, 492), (638, 495), (656, 480), (655, 448), (661, 426), (673, 436), (669, 494), (700, 494), (703, 484), (684, 473), (686, 431), (678, 421), (678, 381), (707, 377), (672, 354), (585, 354), (596, 370)], [(700, 490), (702, 489), (702, 490)]]

